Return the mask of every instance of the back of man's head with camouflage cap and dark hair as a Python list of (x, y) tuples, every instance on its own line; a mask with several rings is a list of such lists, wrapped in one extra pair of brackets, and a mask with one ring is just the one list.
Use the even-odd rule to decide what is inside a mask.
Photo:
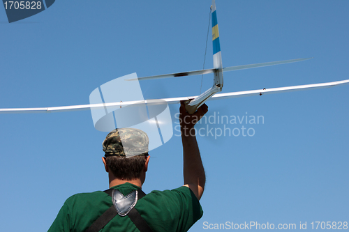
[(142, 130), (119, 128), (103, 141), (105, 162), (116, 178), (140, 178), (149, 151), (149, 138)]

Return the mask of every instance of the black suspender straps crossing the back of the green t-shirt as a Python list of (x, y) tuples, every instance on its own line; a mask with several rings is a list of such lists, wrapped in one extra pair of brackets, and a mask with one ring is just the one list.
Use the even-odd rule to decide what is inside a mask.
[[(109, 196), (112, 196), (112, 189), (105, 190), (104, 192)], [(143, 196), (146, 195), (142, 190), (137, 190), (137, 193), (138, 193), (138, 200), (140, 200)], [(110, 222), (110, 220), (113, 219), (116, 215), (117, 215), (117, 210), (115, 209), (114, 206), (110, 206), (110, 208), (108, 208), (105, 212), (103, 212), (103, 215), (98, 217), (98, 219), (96, 219), (96, 221), (94, 221), (94, 223), (92, 223), (91, 226), (89, 226), (89, 228), (87, 228), (87, 230), (84, 232), (101, 231), (101, 229), (103, 229), (103, 227), (108, 222)], [(143, 217), (135, 208), (132, 208), (132, 210), (128, 212), (128, 217), (130, 217), (131, 221), (133, 222), (133, 224), (135, 224), (135, 226), (137, 226), (140, 232), (152, 232), (147, 222), (145, 222)]]

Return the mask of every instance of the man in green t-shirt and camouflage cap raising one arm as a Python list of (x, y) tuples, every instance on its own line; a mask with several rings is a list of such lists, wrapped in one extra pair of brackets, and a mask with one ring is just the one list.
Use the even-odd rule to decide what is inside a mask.
[(194, 125), (207, 109), (207, 105), (202, 105), (190, 115), (181, 102), (183, 186), (142, 193), (149, 163), (147, 134), (132, 128), (113, 130), (103, 141), (105, 157), (102, 158), (110, 190), (70, 196), (49, 232), (188, 231), (203, 213), (198, 200), (205, 187), (205, 171)]

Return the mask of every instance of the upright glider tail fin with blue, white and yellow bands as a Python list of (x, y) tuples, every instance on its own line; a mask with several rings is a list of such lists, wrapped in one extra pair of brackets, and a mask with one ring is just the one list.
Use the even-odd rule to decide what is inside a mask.
[(214, 86), (223, 87), (223, 65), (222, 65), (222, 55), (221, 55), (221, 45), (219, 43), (219, 32), (218, 32), (218, 22), (216, 13), (216, 3), (212, 0), (211, 6), (212, 15), (212, 43), (214, 52)]

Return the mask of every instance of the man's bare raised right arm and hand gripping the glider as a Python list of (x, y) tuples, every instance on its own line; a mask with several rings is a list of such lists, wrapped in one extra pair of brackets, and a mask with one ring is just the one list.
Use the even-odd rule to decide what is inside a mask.
[(179, 123), (181, 125), (181, 141), (183, 144), (183, 174), (184, 186), (189, 187), (200, 200), (205, 187), (205, 170), (202, 166), (198, 142), (196, 141), (194, 125), (206, 114), (206, 104), (198, 108), (194, 114), (188, 114), (184, 101), (179, 108)]

